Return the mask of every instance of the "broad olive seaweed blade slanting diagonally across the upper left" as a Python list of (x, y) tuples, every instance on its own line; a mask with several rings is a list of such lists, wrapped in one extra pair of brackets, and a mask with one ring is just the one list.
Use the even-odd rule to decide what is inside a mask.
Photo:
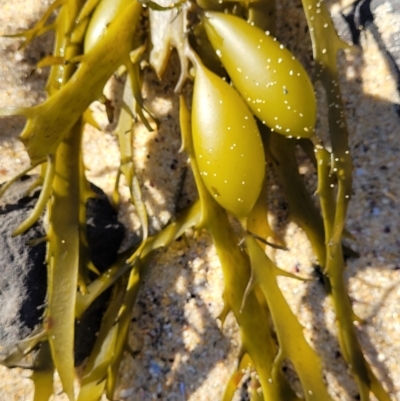
[(83, 56), (71, 79), (44, 103), (30, 109), (20, 138), (32, 163), (55, 153), (90, 103), (100, 97), (108, 78), (124, 64), (140, 11), (140, 3), (133, 1), (96, 46)]

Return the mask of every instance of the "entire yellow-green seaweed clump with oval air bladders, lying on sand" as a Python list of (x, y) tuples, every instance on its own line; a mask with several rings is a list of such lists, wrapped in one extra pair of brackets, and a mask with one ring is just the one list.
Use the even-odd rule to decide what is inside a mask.
[[(55, 9), (55, 21), (49, 24), (47, 19)], [(369, 400), (371, 393), (379, 400), (390, 399), (363, 356), (343, 279), (342, 237), (352, 165), (340, 91), (334, 83), (338, 82), (337, 51), (347, 45), (334, 31), (323, 2), (303, 0), (303, 9), (313, 42), (315, 76), (337, 104), (328, 110), (331, 151), (315, 135), (316, 99), (310, 77), (272, 35), (272, 0), (199, 0), (197, 4), (59, 0), (34, 28), (15, 35), (26, 39), (25, 46), (48, 30), (55, 32), (54, 52), (41, 62), (51, 66), (47, 100), (28, 109), (1, 110), (2, 115), (27, 118), (20, 139), (32, 167), (41, 166), (37, 182), (42, 186), (41, 195), (32, 215), (15, 234), (27, 230), (44, 210), (49, 217), (43, 321), (0, 361), (16, 366), (39, 349), (31, 376), (35, 401), (47, 401), (53, 394), (55, 370), (69, 400), (97, 401), (103, 395), (114, 399), (119, 365), (129, 350), (131, 310), (141, 279), (151, 269), (151, 256), (189, 228), (210, 234), (225, 283), (221, 320), (233, 312), (240, 328), (242, 350), (223, 400), (233, 398), (249, 372), (254, 373), (252, 400), (331, 399), (324, 361), (308, 343), (277, 283), (278, 276), (301, 278), (279, 269), (265, 253), (268, 237), (280, 243), (273, 246), (284, 248), (284, 241), (267, 220), (268, 163), (277, 171), (290, 218), (307, 234), (329, 284), (341, 353), (360, 399)], [(141, 65), (147, 63), (162, 75), (172, 47), (177, 49), (182, 68), (177, 91), (194, 79), (191, 104), (180, 97), (180, 128), (182, 151), (189, 157), (199, 199), (149, 236), (141, 183), (134, 170), (133, 127), (137, 120), (148, 129), (156, 123), (147, 117), (141, 97)], [(118, 182), (124, 175), (141, 222), (142, 239), (139, 246), (120, 255), (107, 273), (97, 272), (97, 278), (91, 280), (88, 272), (95, 269), (88, 256), (84, 216), (86, 200), (92, 194), (83, 163), (83, 127), (95, 124), (88, 107), (102, 98), (108, 79), (124, 71), (129, 78), (115, 130), (121, 164), (113, 199), (118, 204)], [(297, 142), (300, 138), (303, 142)], [(321, 211), (299, 176), (297, 143), (315, 151)], [(12, 182), (2, 187), (1, 193)], [(229, 215), (239, 223), (235, 230)], [(75, 319), (110, 287), (96, 343), (74, 388)], [(292, 363), (299, 378), (299, 393), (283, 373), (285, 360)]]

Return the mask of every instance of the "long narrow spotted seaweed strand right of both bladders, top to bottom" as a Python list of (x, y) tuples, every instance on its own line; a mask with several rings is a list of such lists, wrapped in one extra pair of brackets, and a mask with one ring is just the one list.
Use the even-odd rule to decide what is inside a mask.
[[(339, 88), (337, 53), (349, 48), (337, 35), (325, 2), (302, 0), (313, 43), (313, 53), (317, 64), (316, 79), (324, 86), (328, 108), (329, 135), (332, 154), (328, 162), (326, 151), (316, 145), (319, 166), (318, 195), (321, 200), (325, 227), (326, 266), (329, 276), (331, 296), (337, 315), (339, 342), (346, 362), (357, 382), (362, 401), (369, 400), (372, 391), (379, 400), (389, 400), (381, 382), (373, 374), (362, 353), (353, 324), (354, 312), (347, 294), (343, 278), (345, 268), (341, 248), (345, 218), (352, 191), (352, 160), (348, 145), (348, 132), (343, 102)], [(327, 166), (330, 167), (328, 172)], [(331, 175), (337, 179), (336, 196), (334, 184), (329, 184)], [(336, 199), (335, 199), (336, 198)]]

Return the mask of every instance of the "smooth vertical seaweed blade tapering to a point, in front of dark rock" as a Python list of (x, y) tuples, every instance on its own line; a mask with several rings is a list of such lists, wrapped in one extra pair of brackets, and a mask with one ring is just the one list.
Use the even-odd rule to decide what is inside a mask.
[(79, 149), (78, 122), (56, 154), (51, 201), (48, 306), (45, 328), (54, 365), (64, 391), (74, 400), (74, 325), (79, 273)]

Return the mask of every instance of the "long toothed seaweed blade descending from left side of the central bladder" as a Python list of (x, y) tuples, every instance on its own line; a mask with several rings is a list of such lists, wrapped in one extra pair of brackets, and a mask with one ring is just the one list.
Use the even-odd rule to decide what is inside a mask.
[(247, 352), (254, 363), (265, 400), (297, 400), (298, 397), (284, 379), (282, 371), (272, 377), (273, 362), (278, 350), (269, 325), (266, 305), (259, 302), (253, 291), (248, 294), (246, 304), (242, 307), (242, 299), (250, 280), (249, 259), (238, 246), (238, 238), (226, 212), (214, 201), (203, 184), (193, 150), (190, 114), (183, 96), (180, 98), (180, 123), (184, 150), (189, 154), (200, 196), (200, 227), (207, 229), (215, 245), (224, 275), (224, 300), (238, 321), (243, 352)]

